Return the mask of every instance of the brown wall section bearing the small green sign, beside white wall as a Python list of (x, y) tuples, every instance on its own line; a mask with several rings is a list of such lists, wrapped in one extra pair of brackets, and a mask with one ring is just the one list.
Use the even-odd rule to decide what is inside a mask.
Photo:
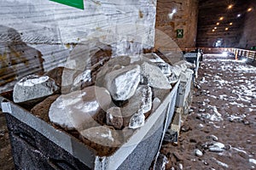
[[(172, 38), (172, 41), (182, 50), (195, 48), (197, 14), (197, 0), (158, 0), (155, 29)], [(182, 32), (178, 35), (177, 31)], [(155, 47), (160, 48), (162, 42), (158, 43), (157, 32), (155, 38)], [(175, 44), (172, 47), (176, 48)]]

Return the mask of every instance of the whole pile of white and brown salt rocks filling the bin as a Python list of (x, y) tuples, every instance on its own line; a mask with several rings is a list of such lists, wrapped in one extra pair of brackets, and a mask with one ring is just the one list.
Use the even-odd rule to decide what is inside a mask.
[(184, 60), (169, 65), (156, 54), (118, 56), (96, 73), (57, 68), (44, 76), (23, 77), (15, 84), (13, 98), (18, 104), (43, 102), (44, 107), (43, 100), (58, 94), (46, 111), (50, 122), (99, 144), (119, 145), (116, 131), (142, 127), (172, 84), (188, 79), (193, 67)]

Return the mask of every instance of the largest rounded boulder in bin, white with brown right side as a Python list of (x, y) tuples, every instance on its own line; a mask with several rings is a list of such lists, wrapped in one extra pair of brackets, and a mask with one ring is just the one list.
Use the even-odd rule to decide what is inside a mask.
[(83, 130), (102, 123), (111, 101), (108, 90), (96, 86), (62, 94), (50, 106), (49, 119), (61, 127)]

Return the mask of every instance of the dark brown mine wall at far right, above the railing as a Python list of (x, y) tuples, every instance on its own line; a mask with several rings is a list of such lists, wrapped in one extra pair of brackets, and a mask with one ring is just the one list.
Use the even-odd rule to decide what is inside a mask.
[(247, 13), (238, 48), (250, 49), (256, 46), (256, 1), (251, 0), (253, 10)]

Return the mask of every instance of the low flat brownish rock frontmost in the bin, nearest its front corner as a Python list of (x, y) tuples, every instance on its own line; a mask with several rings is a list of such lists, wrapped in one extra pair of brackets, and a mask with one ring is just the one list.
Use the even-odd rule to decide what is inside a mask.
[(81, 133), (84, 138), (89, 139), (96, 144), (110, 147), (118, 147), (120, 145), (118, 133), (108, 127), (91, 127), (80, 131), (79, 133)]

